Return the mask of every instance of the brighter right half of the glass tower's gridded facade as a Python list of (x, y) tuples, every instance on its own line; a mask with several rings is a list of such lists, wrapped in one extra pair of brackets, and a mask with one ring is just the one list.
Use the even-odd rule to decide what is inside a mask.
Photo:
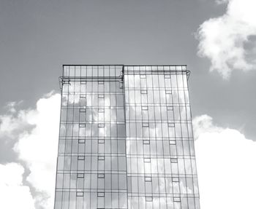
[(187, 71), (124, 68), (129, 208), (199, 208)]

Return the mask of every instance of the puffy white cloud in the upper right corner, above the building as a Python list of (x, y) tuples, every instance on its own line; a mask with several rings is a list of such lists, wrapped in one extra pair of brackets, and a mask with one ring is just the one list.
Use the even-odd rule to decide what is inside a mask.
[(198, 54), (211, 60), (211, 71), (217, 70), (224, 79), (233, 70), (249, 71), (256, 68), (255, 58), (249, 58), (255, 49), (246, 50), (245, 44), (256, 36), (256, 1), (219, 0), (227, 3), (227, 11), (221, 17), (206, 20), (197, 31)]

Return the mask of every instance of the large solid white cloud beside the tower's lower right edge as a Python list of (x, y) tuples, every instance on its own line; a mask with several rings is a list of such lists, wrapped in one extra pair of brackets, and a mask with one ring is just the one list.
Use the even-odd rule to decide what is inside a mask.
[(193, 125), (201, 209), (256, 208), (256, 142), (207, 115)]

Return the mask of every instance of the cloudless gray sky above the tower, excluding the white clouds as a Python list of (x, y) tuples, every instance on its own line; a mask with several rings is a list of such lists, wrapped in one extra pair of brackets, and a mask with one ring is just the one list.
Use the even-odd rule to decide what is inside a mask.
[(197, 57), (194, 33), (223, 12), (225, 5), (205, 0), (3, 0), (0, 105), (31, 106), (59, 91), (62, 64), (187, 64), (193, 116), (209, 114), (255, 139), (256, 71), (225, 81)]

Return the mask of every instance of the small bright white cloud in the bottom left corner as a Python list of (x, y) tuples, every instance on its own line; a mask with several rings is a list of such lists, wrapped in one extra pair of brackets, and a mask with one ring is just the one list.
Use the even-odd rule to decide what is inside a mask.
[(34, 209), (29, 186), (23, 185), (24, 168), (17, 163), (0, 164), (0, 208)]

